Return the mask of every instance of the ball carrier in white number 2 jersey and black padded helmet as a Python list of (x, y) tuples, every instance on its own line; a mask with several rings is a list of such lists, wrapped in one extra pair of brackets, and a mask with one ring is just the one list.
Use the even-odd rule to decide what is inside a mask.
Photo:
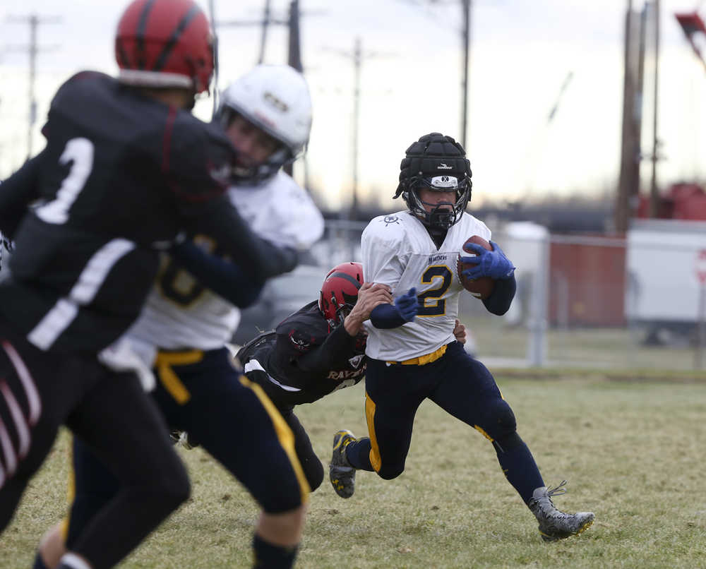
[[(491, 241), (492, 251), (464, 246), (473, 235), (491, 238), (490, 229), (465, 212), (471, 195), (465, 151), (453, 138), (431, 133), (406, 154), (395, 197), (402, 196), (409, 209), (374, 218), (361, 237), (365, 281), (388, 285), (397, 299), (373, 309), (366, 324), (369, 437), (335, 434), (330, 464), (334, 489), (342, 497), (351, 496), (355, 469), (375, 471), (384, 479), (402, 474), (414, 414), (430, 399), (493, 443), (505, 477), (537, 517), (545, 541), (578, 534), (594, 515), (568, 515), (554, 507), (551, 496), (563, 493), (565, 482), (546, 488), (493, 376), (453, 335), (464, 290), (456, 274), (462, 247), (477, 255), (462, 257), (477, 265), (464, 272), (495, 281), (483, 301), (491, 313), (505, 313), (516, 288), (515, 268), (497, 244)], [(410, 308), (405, 291), (413, 288), (417, 303)]]

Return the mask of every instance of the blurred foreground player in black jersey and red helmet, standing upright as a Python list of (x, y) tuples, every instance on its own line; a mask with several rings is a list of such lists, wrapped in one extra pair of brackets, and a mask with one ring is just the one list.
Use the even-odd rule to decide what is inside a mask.
[(213, 71), (201, 9), (133, 1), (116, 59), (117, 80), (83, 72), (59, 88), (46, 147), (0, 186), (0, 230), (16, 245), (0, 286), (0, 531), (62, 423), (121, 481), (61, 568), (115, 565), (189, 495), (135, 373), (145, 370), (116, 342), (150, 290), (160, 246), (181, 230), (208, 234), (259, 282), (296, 264), (229, 205), (234, 150), (188, 112)]

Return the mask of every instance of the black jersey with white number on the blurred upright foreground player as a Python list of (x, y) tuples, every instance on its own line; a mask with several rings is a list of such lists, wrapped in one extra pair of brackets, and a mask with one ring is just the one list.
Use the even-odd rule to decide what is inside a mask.
[(59, 88), (43, 132), (0, 312), (37, 347), (95, 352), (138, 315), (160, 244), (222, 196), (233, 150), (217, 126), (94, 72)]

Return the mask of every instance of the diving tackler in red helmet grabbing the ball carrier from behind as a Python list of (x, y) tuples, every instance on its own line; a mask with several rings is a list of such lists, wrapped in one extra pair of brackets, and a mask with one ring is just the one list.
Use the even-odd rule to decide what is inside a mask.
[[(341, 263), (326, 275), (318, 301), (285, 318), (276, 330), (258, 335), (237, 354), (246, 376), (261, 385), (294, 432), (294, 448), (312, 491), (323, 481), (323, 465), (294, 406), (364, 378), (363, 323), (378, 304), (392, 301), (388, 287), (363, 282), (360, 263)], [(465, 327), (458, 321), (454, 334), (465, 342)]]

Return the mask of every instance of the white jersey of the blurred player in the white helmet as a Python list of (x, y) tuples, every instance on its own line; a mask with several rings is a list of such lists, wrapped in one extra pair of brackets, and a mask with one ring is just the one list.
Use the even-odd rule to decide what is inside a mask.
[[(228, 193), (253, 231), (275, 245), (304, 251), (323, 234), (323, 216), (309, 193), (281, 170), (263, 184), (231, 186)], [(213, 249), (208, 239), (195, 241)], [(231, 339), (239, 321), (239, 309), (186, 270), (175, 270), (164, 255), (155, 287), (128, 336), (143, 353), (149, 346), (217, 349)]]

